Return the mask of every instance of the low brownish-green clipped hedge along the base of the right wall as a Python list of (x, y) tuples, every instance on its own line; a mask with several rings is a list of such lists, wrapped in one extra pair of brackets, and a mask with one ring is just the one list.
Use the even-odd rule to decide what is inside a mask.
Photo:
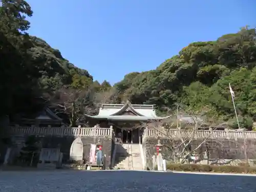
[(249, 173), (256, 174), (256, 166), (248, 164), (240, 166), (231, 165), (200, 165), (200, 164), (167, 164), (167, 170), (184, 172), (215, 172), (215, 173)]

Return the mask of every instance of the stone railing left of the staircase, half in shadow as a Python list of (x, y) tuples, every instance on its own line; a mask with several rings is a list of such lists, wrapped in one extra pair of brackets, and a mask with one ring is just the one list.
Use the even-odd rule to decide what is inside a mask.
[(12, 135), (38, 135), (38, 136), (110, 136), (112, 138), (113, 128), (101, 127), (9, 127)]

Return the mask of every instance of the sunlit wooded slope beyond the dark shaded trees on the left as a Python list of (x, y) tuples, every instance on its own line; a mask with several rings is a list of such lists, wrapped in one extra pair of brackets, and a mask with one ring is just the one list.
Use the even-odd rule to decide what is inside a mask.
[(79, 88), (87, 87), (93, 81), (88, 71), (75, 67), (62, 57), (59, 50), (51, 48), (46, 41), (35, 36), (29, 37), (32, 42), (29, 54), (39, 72), (41, 86), (53, 89), (71, 84)]

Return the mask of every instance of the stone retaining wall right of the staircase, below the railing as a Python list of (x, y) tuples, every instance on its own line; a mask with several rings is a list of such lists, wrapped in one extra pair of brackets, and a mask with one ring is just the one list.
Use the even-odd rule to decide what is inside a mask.
[[(179, 140), (168, 140), (160, 138), (160, 142), (163, 145), (170, 146), (172, 142), (173, 146), (181, 144)], [(190, 144), (190, 150), (194, 150), (203, 142), (203, 139), (193, 140)], [(143, 139), (143, 150), (145, 152), (146, 165), (152, 168), (152, 157), (156, 153), (155, 145), (158, 143), (157, 138), (146, 137)], [(207, 161), (214, 162), (216, 160), (237, 160), (245, 159), (256, 159), (256, 140), (255, 139), (208, 139), (204, 142), (196, 151), (199, 156), (199, 161), (206, 160), (205, 153), (208, 155)], [(167, 160), (173, 159), (172, 151), (168, 147), (162, 147), (162, 154)]]

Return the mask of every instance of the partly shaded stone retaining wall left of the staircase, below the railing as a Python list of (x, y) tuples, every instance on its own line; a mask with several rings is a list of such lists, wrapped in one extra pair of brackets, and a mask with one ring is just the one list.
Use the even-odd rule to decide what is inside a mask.
[[(19, 155), (20, 149), (24, 146), (28, 137), (13, 137), (13, 151), (16, 151), (14, 156)], [(70, 159), (70, 147), (73, 141), (77, 137), (56, 137), (56, 136), (45, 136), (37, 137), (38, 145), (40, 148), (57, 148), (60, 147), (60, 152), (63, 153), (63, 163), (67, 163)], [(112, 155), (112, 139), (109, 137), (81, 137), (83, 143), (83, 160), (84, 163), (89, 161), (90, 157), (90, 144), (96, 144), (100, 139), (102, 143), (103, 155), (106, 155), (106, 168), (110, 167), (111, 155)], [(15, 157), (13, 157), (15, 158)]]

